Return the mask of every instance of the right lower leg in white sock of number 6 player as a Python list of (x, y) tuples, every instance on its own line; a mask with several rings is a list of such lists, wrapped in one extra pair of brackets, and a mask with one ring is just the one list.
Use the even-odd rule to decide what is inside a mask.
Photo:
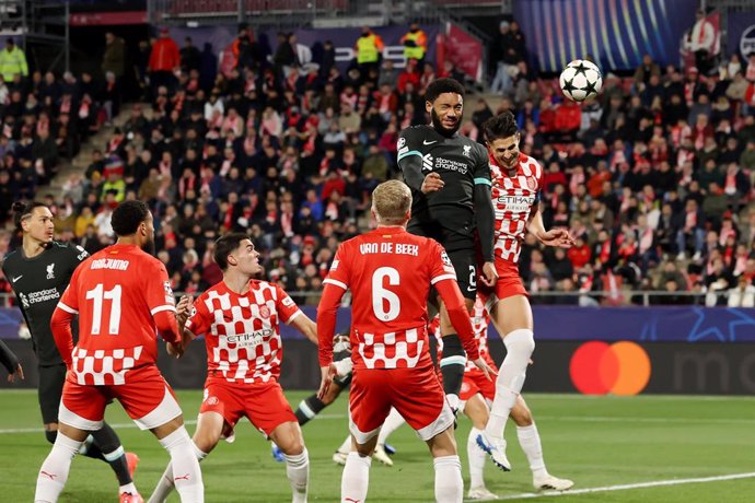
[(453, 425), (427, 441), (435, 468), (435, 501), (461, 503), (464, 499), (462, 461), (456, 451)]

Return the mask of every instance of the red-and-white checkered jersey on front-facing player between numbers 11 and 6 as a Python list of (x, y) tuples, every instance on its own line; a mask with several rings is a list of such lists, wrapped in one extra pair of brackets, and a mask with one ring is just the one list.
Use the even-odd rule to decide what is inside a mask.
[(186, 328), (205, 336), (207, 374), (229, 383), (277, 381), (283, 348), (279, 321), (301, 311), (277, 284), (252, 280), (244, 295), (221, 281), (194, 302)]

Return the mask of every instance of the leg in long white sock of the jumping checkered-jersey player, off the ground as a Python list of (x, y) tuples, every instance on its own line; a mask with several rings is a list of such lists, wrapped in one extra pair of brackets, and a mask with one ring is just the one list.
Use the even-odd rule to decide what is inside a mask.
[(532, 308), (526, 296), (512, 295), (496, 302), (489, 313), (493, 326), (503, 338), (507, 355), (496, 379), (490, 419), (478, 437), (478, 445), (490, 454), (498, 468), (509, 471), (511, 464), (506, 456), (503, 429), (522, 391), (530, 356), (535, 349)]

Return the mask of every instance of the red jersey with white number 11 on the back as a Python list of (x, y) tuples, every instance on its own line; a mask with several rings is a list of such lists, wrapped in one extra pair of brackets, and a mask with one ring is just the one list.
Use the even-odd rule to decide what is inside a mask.
[(132, 245), (113, 245), (73, 272), (58, 307), (79, 315), (77, 382), (126, 384), (126, 374), (158, 359), (153, 316), (175, 312), (165, 266)]

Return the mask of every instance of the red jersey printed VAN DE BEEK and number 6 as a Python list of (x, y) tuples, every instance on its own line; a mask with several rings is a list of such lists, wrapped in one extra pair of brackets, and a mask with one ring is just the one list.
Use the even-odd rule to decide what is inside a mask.
[(443, 247), (402, 227), (341, 243), (324, 283), (351, 290), (355, 369), (432, 366), (427, 299), (444, 280), (456, 274)]

